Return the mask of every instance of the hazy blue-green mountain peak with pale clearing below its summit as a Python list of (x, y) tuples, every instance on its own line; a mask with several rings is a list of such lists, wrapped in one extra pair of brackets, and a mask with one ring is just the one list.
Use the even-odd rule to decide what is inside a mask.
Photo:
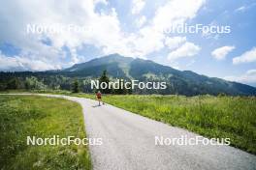
[(177, 71), (171, 67), (154, 63), (150, 60), (123, 57), (119, 54), (93, 59), (62, 70), (63, 74), (80, 77), (99, 77), (107, 70), (113, 78), (138, 79), (140, 81), (166, 81), (167, 90), (148, 91), (147, 93), (179, 94), (194, 96), (201, 94), (255, 96), (256, 88), (230, 82), (220, 78), (208, 77), (193, 71)]

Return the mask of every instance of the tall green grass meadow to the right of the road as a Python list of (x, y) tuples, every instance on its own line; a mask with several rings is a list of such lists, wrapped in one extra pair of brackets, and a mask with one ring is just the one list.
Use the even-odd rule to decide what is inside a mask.
[[(95, 99), (93, 95), (76, 95)], [(105, 96), (117, 107), (186, 128), (210, 138), (230, 138), (231, 145), (256, 154), (255, 97)]]

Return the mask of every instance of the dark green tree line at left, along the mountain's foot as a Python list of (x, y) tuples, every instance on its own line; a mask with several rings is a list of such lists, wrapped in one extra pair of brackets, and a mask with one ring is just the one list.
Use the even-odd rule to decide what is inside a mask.
[[(109, 83), (108, 71), (98, 77), (99, 82)], [(6, 90), (68, 90), (73, 93), (131, 94), (129, 89), (95, 89), (91, 90), (90, 79), (84, 77), (68, 77), (52, 72), (0, 72), (0, 91)]]

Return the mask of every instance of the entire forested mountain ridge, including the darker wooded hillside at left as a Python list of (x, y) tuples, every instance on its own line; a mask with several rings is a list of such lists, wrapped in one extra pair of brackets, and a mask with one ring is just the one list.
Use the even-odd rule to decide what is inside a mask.
[(208, 77), (193, 71), (178, 71), (150, 60), (123, 57), (119, 54), (96, 58), (61, 71), (0, 72), (0, 90), (10, 87), (70, 90), (77, 78), (80, 84), (83, 83), (81, 90), (88, 93), (92, 92), (90, 80), (99, 78), (105, 70), (111, 78), (167, 82), (168, 88), (165, 90), (135, 89), (135, 94), (256, 96), (256, 88), (245, 84)]

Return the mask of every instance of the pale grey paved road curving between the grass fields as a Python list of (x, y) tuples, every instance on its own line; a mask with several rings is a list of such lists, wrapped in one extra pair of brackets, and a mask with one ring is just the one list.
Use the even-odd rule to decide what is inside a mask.
[(89, 147), (95, 170), (256, 169), (256, 156), (233, 147), (155, 145), (155, 136), (198, 136), (185, 129), (152, 121), (109, 104), (97, 106), (97, 101), (91, 99), (50, 97), (79, 102), (87, 136), (103, 138), (103, 145)]

